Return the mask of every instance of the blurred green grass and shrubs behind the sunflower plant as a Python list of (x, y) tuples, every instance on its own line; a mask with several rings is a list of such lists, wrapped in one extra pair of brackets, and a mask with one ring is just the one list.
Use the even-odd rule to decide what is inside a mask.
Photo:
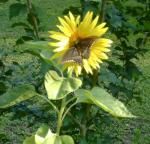
[[(0, 94), (29, 83), (44, 93), (43, 77), (52, 66), (39, 56), (39, 51), (50, 57), (46, 55), (48, 50), (41, 51), (42, 46), (34, 50), (34, 46), (23, 43), (50, 41), (48, 31), (56, 28), (57, 16), (68, 11), (84, 15), (92, 10), (95, 15), (104, 16), (109, 26), (107, 37), (114, 41), (109, 61), (101, 66), (99, 85), (126, 103), (138, 118), (116, 119), (93, 107), (91, 113), (95, 118), (89, 122), (89, 144), (149, 144), (149, 1), (108, 0), (103, 6), (101, 0), (32, 0), (32, 10), (27, 2), (0, 0)], [(78, 113), (82, 111), (80, 108)], [(42, 123), (55, 128), (55, 120), (53, 110), (37, 97), (0, 110), (0, 144), (20, 144)], [(76, 124), (72, 121), (66, 118), (62, 133), (72, 135), (79, 143), (78, 129), (74, 129)], [(97, 129), (93, 129), (93, 123)]]

